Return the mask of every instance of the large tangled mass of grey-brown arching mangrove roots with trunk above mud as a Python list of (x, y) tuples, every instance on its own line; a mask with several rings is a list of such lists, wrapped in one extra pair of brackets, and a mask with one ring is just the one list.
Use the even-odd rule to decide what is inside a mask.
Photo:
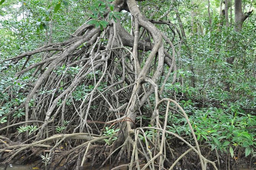
[[(155, 27), (154, 21), (140, 13), (134, 0), (116, 0), (113, 4), (116, 11), (130, 12), (133, 35), (120, 21), (110, 22), (103, 30), (83, 24), (65, 42), (51, 43), (8, 59), (9, 63), (18, 63), (24, 58), (41, 57), (29, 66), (25, 62), (15, 75), (25, 85), (26, 100), (5, 114), (10, 119), (0, 129), (1, 165), (21, 157), (23, 163), (33, 162), (47, 152), (51, 157), (47, 168), (53, 169), (83, 169), (85, 162), (99, 168), (111, 164), (113, 169), (171, 169), (177, 161), (173, 161), (176, 156), (166, 138), (169, 135), (187, 144), (191, 148), (187, 152), (198, 155), (197, 167), (206, 169), (210, 163), (217, 169), (214, 162), (202, 156), (183, 109), (176, 101), (161, 97), (167, 80), (176, 81), (176, 73), (170, 77), (176, 70), (177, 55), (172, 41)], [(150, 42), (141, 39), (146, 34)], [(168, 74), (163, 72), (164, 67), (169, 68)], [(31, 78), (24, 79), (27, 75)], [(168, 131), (169, 108), (186, 118), (196, 146)], [(23, 110), (25, 119), (11, 117)], [(142, 119), (143, 116), (150, 120)], [(13, 142), (8, 130), (21, 125), (37, 128), (30, 132), (23, 129), (26, 137), (14, 133), (19, 142)], [(119, 165), (121, 160), (125, 160), (124, 165)], [(39, 164), (42, 165), (45, 164)]]

